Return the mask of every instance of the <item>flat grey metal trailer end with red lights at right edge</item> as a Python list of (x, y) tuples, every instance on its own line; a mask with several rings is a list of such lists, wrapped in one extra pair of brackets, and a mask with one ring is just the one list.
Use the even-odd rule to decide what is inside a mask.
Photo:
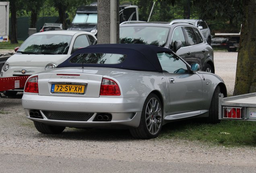
[(219, 119), (256, 121), (256, 93), (232, 97), (219, 94)]

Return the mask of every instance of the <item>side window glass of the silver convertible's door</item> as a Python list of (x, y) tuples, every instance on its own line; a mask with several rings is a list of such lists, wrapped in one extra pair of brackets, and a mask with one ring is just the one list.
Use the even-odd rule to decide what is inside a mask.
[(157, 57), (163, 69), (163, 72), (168, 73), (188, 73), (186, 63), (178, 56), (171, 52), (159, 52)]

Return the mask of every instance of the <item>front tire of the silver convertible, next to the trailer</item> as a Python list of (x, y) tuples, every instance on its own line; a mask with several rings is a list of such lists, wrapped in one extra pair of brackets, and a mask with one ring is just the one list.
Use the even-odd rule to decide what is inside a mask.
[(217, 86), (212, 97), (210, 109), (209, 109), (209, 117), (206, 119), (206, 123), (217, 124), (220, 123), (219, 120), (219, 93), (220, 87)]

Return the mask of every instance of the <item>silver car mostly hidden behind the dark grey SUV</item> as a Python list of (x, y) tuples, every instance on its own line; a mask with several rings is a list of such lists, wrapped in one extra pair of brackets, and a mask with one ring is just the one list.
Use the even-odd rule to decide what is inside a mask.
[(202, 20), (202, 19), (175, 19), (175, 20), (172, 20), (171, 22), (188, 22), (188, 23), (193, 24), (194, 26), (197, 26), (200, 29), (200, 31), (202, 32), (207, 43), (211, 45), (211, 30), (205, 20)]

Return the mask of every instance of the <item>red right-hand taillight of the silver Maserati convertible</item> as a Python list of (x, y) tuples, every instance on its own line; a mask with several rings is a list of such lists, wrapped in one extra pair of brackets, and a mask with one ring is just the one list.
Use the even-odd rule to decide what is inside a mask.
[(121, 92), (118, 84), (114, 80), (103, 78), (99, 95), (119, 96), (121, 95)]

